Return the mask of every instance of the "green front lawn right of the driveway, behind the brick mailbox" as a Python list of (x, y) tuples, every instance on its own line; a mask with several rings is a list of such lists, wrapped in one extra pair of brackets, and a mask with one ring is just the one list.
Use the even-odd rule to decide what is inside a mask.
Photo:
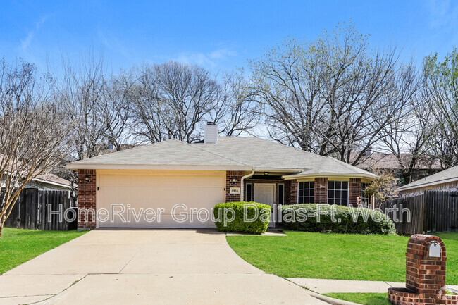
[[(409, 237), (286, 231), (287, 236), (228, 236), (242, 259), (285, 278), (405, 281)], [(458, 233), (447, 247), (447, 284), (458, 284)]]

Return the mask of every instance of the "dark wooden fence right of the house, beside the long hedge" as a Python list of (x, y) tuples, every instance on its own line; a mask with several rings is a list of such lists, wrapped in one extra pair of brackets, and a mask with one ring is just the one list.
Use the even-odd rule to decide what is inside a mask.
[(400, 211), (389, 214), (400, 235), (450, 232), (458, 229), (458, 192), (425, 191), (417, 196), (388, 201), (383, 208), (410, 211), (410, 221), (405, 210), (404, 213)]

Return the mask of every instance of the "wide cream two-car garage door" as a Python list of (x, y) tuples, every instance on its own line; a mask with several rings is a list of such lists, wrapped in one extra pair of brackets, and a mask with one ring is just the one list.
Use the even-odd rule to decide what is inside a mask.
[(100, 228), (216, 228), (211, 208), (225, 201), (223, 171), (106, 170), (97, 181)]

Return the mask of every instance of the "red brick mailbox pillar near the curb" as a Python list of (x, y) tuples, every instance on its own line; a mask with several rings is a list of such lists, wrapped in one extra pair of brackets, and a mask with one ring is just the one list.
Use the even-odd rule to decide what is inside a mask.
[(445, 245), (437, 236), (412, 235), (406, 251), (406, 288), (388, 288), (394, 305), (458, 305), (445, 286)]

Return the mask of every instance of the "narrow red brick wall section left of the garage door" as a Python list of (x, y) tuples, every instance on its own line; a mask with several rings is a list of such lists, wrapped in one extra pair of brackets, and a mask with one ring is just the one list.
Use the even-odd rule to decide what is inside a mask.
[[(86, 182), (86, 177), (89, 182)], [(96, 172), (95, 170), (78, 170), (78, 228), (95, 228), (96, 210)], [(83, 210), (88, 211), (82, 213)], [(93, 212), (90, 212), (90, 211)]]

